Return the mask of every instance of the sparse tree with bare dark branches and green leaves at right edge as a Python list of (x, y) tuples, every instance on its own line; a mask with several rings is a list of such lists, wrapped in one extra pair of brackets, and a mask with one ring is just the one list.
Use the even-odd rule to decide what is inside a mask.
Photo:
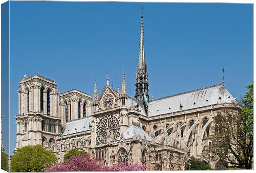
[[(213, 160), (219, 160), (226, 168), (251, 169), (253, 165), (253, 88), (246, 87), (241, 106), (220, 114), (220, 125), (214, 127), (213, 145), (210, 148)], [(235, 105), (235, 104), (234, 104)], [(236, 104), (237, 105), (237, 104)]]

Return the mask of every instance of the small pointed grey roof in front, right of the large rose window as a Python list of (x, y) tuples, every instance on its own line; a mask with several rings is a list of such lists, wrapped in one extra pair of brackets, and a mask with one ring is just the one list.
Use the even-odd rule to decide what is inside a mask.
[[(142, 139), (144, 139), (144, 136), (146, 137), (146, 140), (149, 142), (152, 142), (152, 139), (147, 135), (147, 133), (140, 128), (139, 125), (135, 124), (134, 122), (130, 127), (123, 132), (123, 138), (124, 139), (132, 139), (133, 136), (138, 137), (140, 136)], [(120, 139), (120, 136), (117, 138), (117, 140)]]

